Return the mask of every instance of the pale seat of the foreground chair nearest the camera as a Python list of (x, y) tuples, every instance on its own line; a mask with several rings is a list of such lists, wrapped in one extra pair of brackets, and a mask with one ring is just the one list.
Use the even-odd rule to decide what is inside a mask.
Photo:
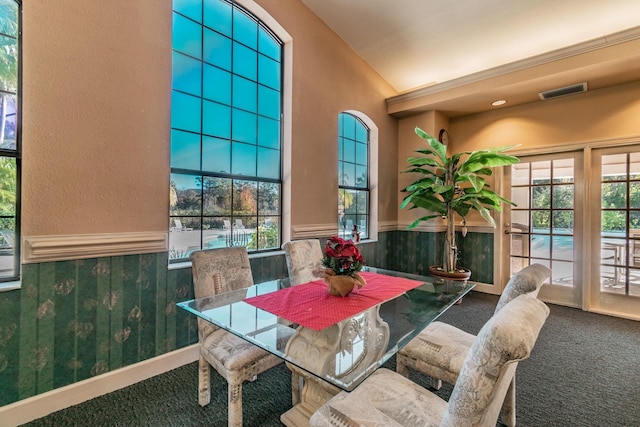
[(382, 368), (351, 393), (340, 392), (311, 417), (324, 426), (438, 426), (447, 402), (402, 375)]

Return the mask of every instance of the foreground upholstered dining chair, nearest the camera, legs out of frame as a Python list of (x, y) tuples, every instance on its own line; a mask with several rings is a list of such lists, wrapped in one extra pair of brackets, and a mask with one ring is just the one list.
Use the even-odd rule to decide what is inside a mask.
[(379, 369), (351, 393), (340, 392), (316, 411), (313, 427), (495, 427), (518, 363), (529, 357), (549, 308), (521, 295), (480, 330), (449, 401), (388, 369)]

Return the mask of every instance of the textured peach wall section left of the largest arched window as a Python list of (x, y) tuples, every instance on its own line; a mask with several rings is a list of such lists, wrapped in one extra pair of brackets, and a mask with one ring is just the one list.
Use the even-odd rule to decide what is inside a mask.
[(23, 7), (24, 236), (167, 228), (171, 2)]

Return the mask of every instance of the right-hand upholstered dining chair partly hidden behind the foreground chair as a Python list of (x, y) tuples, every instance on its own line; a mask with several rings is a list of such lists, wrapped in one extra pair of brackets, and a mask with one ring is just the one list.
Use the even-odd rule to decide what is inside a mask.
[[(537, 296), (550, 274), (551, 270), (542, 264), (531, 264), (517, 272), (507, 282), (494, 315), (522, 294)], [(455, 326), (433, 322), (400, 350), (396, 358), (396, 372), (408, 377), (409, 369), (412, 369), (428, 375), (436, 390), (442, 386), (442, 381), (454, 384), (475, 338), (475, 335)], [(515, 400), (514, 376), (502, 409), (502, 422), (507, 426), (515, 426), (516, 423)]]

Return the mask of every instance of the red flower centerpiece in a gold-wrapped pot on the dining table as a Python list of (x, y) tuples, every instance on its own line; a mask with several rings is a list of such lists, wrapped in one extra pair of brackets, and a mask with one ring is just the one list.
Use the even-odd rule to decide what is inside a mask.
[(361, 288), (366, 285), (367, 282), (358, 274), (364, 266), (364, 259), (351, 240), (333, 236), (327, 240), (323, 254), (324, 280), (331, 295), (346, 296), (355, 286)]

